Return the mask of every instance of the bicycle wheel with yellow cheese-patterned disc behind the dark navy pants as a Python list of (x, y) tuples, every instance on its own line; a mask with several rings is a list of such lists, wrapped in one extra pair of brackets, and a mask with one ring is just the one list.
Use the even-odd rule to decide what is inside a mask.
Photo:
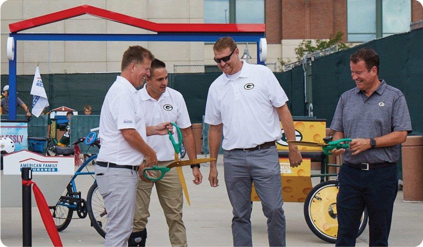
[[(338, 234), (336, 210), (337, 186), (337, 180), (321, 182), (313, 187), (304, 202), (304, 217), (308, 227), (320, 239), (332, 244), (335, 244)], [(364, 209), (360, 220), (358, 236), (363, 233), (367, 225), (367, 220), (367, 209)]]

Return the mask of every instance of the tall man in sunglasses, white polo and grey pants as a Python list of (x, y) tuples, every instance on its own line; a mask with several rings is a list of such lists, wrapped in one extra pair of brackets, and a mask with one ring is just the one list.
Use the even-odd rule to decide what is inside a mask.
[[(282, 209), (280, 166), (275, 141), (295, 140), (294, 123), (286, 105), (288, 98), (272, 71), (263, 65), (239, 60), (239, 49), (230, 37), (213, 46), (214, 60), (223, 72), (209, 88), (204, 122), (210, 124), (210, 157), (222, 148), (225, 184), (233, 207), (234, 246), (252, 246), (251, 185), (260, 197), (270, 246), (286, 246), (285, 215)], [(289, 162), (302, 162), (296, 145), (289, 144)], [(217, 187), (216, 161), (210, 163), (209, 181)]]

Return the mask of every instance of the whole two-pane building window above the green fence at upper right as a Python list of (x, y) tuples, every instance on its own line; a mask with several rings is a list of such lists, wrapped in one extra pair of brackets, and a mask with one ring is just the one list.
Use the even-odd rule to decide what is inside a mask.
[(347, 0), (348, 42), (409, 30), (412, 0)]

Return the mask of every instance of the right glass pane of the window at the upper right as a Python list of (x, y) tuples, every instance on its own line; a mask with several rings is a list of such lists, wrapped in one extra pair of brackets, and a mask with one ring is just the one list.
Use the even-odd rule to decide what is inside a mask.
[(410, 30), (411, 0), (382, 0), (383, 33), (402, 33)]

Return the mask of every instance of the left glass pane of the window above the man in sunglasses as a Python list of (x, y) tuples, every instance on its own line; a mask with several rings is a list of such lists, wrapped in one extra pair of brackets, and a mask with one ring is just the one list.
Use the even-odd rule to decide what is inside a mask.
[(229, 23), (229, 0), (204, 0), (204, 23)]

